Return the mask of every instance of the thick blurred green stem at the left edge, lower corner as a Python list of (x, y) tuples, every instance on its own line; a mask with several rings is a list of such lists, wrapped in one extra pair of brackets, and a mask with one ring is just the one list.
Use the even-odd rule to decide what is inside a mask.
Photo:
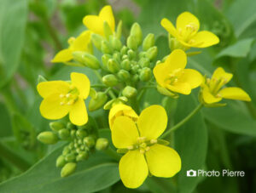
[(5, 145), (2, 145), (2, 143), (0, 143), (0, 156), (12, 162), (16, 167), (20, 168), (21, 171), (26, 171), (30, 167), (30, 164), (26, 162), (26, 160), (9, 150)]

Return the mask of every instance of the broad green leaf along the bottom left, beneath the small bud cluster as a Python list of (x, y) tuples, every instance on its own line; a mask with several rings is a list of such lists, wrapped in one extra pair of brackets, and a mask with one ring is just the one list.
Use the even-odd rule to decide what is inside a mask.
[(60, 169), (55, 167), (55, 160), (61, 150), (53, 151), (26, 173), (0, 184), (0, 192), (96, 192), (119, 180), (118, 164), (100, 153), (81, 162), (73, 175), (61, 178)]

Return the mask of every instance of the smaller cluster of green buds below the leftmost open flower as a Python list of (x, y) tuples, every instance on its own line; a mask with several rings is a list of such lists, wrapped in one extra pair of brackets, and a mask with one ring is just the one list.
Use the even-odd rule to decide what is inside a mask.
[(56, 167), (62, 167), (61, 177), (72, 174), (77, 162), (88, 159), (95, 150), (106, 150), (108, 139), (97, 138), (96, 129), (90, 122), (84, 126), (75, 126), (71, 122), (50, 122), (52, 131), (38, 134), (38, 140), (44, 144), (52, 145), (59, 140), (68, 141), (64, 146), (61, 156), (56, 159)]

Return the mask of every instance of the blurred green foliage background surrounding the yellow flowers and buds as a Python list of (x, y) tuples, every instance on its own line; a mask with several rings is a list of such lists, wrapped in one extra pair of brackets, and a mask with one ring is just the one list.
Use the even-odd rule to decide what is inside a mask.
[[(98, 14), (106, 4), (112, 5), (116, 23), (123, 21), (124, 37), (136, 21), (144, 36), (155, 34), (159, 60), (170, 53), (160, 20), (166, 17), (175, 22), (183, 11), (195, 14), (201, 30), (218, 35), (220, 43), (189, 58), (189, 67), (211, 76), (217, 66), (223, 66), (234, 73), (230, 85), (245, 89), (253, 99), (203, 109), (175, 133), (173, 143), (182, 156), (182, 171), (174, 179), (148, 178), (138, 190), (125, 189), (116, 164), (102, 155), (92, 156), (79, 166), (76, 175), (61, 179), (55, 168), (61, 144), (47, 147), (36, 139), (38, 133), (49, 130), (49, 121), (38, 110), (38, 75), (67, 80), (71, 71), (79, 71), (96, 81), (84, 68), (53, 65), (50, 60), (67, 47), (68, 37), (85, 30), (84, 15)], [(0, 192), (256, 192), (255, 37), (255, 0), (1, 0)], [(145, 97), (150, 104), (160, 104), (161, 99), (154, 91)], [(170, 103), (169, 115), (177, 122), (196, 103), (196, 95), (181, 96), (175, 106)], [(102, 114), (102, 125), (108, 127), (107, 111), (92, 115)], [(185, 173), (191, 168), (243, 170), (246, 176), (187, 178)]]

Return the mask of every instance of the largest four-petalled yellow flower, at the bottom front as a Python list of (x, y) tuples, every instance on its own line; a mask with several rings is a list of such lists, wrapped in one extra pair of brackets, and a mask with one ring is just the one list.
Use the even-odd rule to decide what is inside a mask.
[(128, 188), (143, 184), (149, 172), (156, 177), (170, 178), (181, 169), (176, 150), (158, 144), (158, 137), (166, 130), (167, 115), (160, 105), (143, 110), (137, 123), (127, 116), (113, 122), (112, 141), (117, 148), (127, 149), (119, 162), (120, 178)]

